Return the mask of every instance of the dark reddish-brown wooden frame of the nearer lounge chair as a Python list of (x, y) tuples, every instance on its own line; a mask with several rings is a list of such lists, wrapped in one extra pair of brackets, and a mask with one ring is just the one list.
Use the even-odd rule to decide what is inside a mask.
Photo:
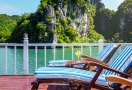
[[(107, 65), (104, 65), (104, 64), (100, 64), (100, 63), (97, 63), (97, 62), (94, 62), (94, 61), (88, 61), (87, 63), (89, 65), (98, 66), (99, 70), (96, 72), (94, 78), (89, 83), (78, 81), (78, 80), (69, 80), (69, 85), (72, 85), (72, 83), (75, 84), (75, 85), (77, 85), (77, 84), (79, 85), (78, 90), (81, 89), (82, 85), (87, 86), (86, 90), (91, 90), (91, 88), (97, 88), (97, 89), (100, 89), (100, 90), (118, 90), (118, 89), (120, 89), (120, 86), (122, 85), (120, 83), (118, 83), (114, 88), (111, 88), (109, 86), (107, 87), (107, 86), (102, 86), (102, 85), (95, 84), (97, 78), (99, 77), (99, 75), (101, 74), (103, 69), (113, 71), (117, 74), (122, 75), (122, 77), (124, 77), (124, 78), (130, 77), (129, 74), (117, 71), (117, 70), (112, 69), (112, 68), (109, 68)], [(36, 81), (31, 83), (33, 85), (31, 90), (36, 90), (38, 88), (39, 84), (41, 84), (41, 83), (53, 83), (53, 82), (62, 83), (62, 82), (68, 82), (68, 80), (66, 80), (66, 79), (52, 79), (52, 80), (51, 79), (36, 79)]]

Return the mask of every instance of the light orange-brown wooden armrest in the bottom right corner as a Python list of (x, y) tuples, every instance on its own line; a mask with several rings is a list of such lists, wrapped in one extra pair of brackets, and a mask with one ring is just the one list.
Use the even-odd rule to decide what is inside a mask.
[(115, 83), (121, 83), (127, 86), (132, 86), (132, 81), (126, 78), (122, 78), (116, 75), (107, 75), (106, 80), (108, 82), (115, 82)]

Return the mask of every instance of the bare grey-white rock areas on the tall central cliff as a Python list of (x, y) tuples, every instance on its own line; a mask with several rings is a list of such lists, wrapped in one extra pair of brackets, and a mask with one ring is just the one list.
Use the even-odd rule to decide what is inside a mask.
[[(58, 11), (57, 15), (55, 11)], [(68, 13), (75, 14), (75, 17), (68, 15)], [(57, 3), (56, 8), (53, 8), (51, 5), (47, 5), (43, 9), (43, 20), (45, 20), (48, 16), (51, 16), (51, 21), (47, 23), (47, 31), (49, 31), (49, 33), (52, 29), (56, 29), (56, 18), (63, 20), (66, 17), (71, 19), (70, 25), (74, 29), (77, 29), (81, 37), (87, 37), (88, 32), (90, 31), (90, 22), (87, 12), (83, 12), (79, 6), (72, 2), (72, 0), (67, 5), (64, 4), (64, 0), (61, 0)], [(53, 41), (52, 43), (57, 43), (57, 33), (54, 33), (53, 36), (50, 35), (50, 40), (48, 39), (47, 41), (50, 41), (50, 43), (51, 41)], [(51, 39), (51, 37), (53, 37), (53, 39)]]

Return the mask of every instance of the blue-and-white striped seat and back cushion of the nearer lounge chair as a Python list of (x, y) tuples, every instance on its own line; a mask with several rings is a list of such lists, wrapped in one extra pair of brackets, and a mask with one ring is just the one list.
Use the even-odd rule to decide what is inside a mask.
[[(119, 56), (111, 63), (111, 68), (119, 71), (126, 72), (132, 66), (132, 46), (127, 46)], [(69, 80), (80, 80), (84, 82), (90, 82), (96, 72), (66, 68), (66, 67), (41, 67), (34, 73), (36, 79), (69, 79)], [(96, 84), (111, 86), (115, 83), (107, 83), (105, 76), (108, 74), (114, 74), (111, 71), (105, 71), (104, 74), (100, 74)]]

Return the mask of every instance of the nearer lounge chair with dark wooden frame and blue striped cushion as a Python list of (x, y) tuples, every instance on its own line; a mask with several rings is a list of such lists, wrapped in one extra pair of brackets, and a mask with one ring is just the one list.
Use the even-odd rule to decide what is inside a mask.
[[(79, 85), (78, 90), (82, 86), (85, 86), (86, 90), (90, 90), (91, 88), (119, 90), (121, 84), (109, 83), (105, 77), (107, 75), (119, 75), (124, 78), (130, 77), (127, 72), (132, 68), (132, 46), (127, 46), (109, 67), (108, 65), (92, 61), (88, 63), (89, 65), (98, 66), (99, 70), (92, 72), (68, 67), (41, 67), (34, 73), (36, 80), (32, 82), (32, 90), (36, 90), (41, 83), (52, 82), (68, 82), (69, 85), (76, 84)], [(106, 70), (103, 71), (103, 69)]]

